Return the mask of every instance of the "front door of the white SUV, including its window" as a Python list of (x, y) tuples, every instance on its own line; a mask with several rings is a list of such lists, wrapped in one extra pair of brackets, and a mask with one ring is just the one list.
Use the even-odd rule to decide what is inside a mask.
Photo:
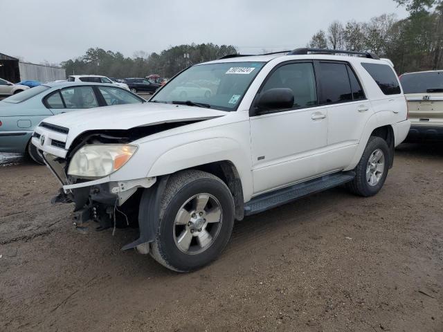
[(283, 63), (266, 78), (259, 93), (289, 88), (291, 109), (252, 116), (254, 194), (314, 178), (323, 173), (327, 145), (327, 107), (318, 106), (312, 62)]

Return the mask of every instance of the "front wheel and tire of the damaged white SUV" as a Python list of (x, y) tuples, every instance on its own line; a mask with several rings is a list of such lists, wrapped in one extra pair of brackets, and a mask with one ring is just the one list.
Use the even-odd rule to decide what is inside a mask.
[[(199, 211), (203, 211), (202, 216)], [(159, 228), (150, 244), (150, 255), (170, 270), (197, 270), (219, 256), (233, 225), (233, 196), (223, 181), (197, 170), (179, 172), (170, 177), (163, 193)]]

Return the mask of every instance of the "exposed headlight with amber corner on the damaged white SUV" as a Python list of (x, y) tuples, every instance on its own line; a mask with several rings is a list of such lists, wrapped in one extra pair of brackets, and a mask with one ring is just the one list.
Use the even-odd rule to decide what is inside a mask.
[(136, 145), (84, 145), (75, 152), (68, 174), (83, 178), (101, 178), (125, 165), (136, 152)]

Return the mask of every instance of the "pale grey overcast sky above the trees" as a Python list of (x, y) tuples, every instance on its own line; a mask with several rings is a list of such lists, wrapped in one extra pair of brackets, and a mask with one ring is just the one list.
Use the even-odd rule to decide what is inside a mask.
[(303, 47), (331, 21), (406, 17), (393, 0), (0, 0), (0, 53), (51, 63), (89, 47), (160, 52), (213, 42), (241, 53)]

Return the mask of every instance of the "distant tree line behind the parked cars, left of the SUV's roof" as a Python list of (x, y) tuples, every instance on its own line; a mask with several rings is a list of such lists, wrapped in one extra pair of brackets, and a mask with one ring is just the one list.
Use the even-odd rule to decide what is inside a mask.
[[(84, 56), (69, 59), (61, 65), (66, 68), (67, 75), (97, 74), (125, 78), (158, 74), (161, 77), (172, 77), (192, 64), (235, 53), (237, 50), (234, 46), (215, 44), (174, 46), (160, 54), (138, 51), (133, 57), (124, 57), (120, 52), (114, 53), (102, 48), (89, 48)], [(185, 54), (189, 54), (189, 57), (184, 57)]]

